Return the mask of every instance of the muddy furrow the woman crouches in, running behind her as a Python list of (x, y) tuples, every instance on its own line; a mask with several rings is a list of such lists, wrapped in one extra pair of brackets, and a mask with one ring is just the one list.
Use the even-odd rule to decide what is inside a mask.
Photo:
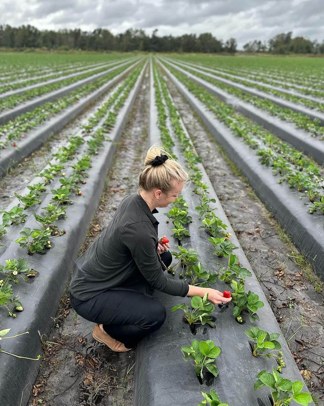
[[(147, 152), (148, 108), (146, 74), (80, 255), (107, 227), (122, 199), (137, 190)], [(65, 295), (49, 337), (43, 337), (45, 352), (28, 405), (132, 405), (135, 351), (112, 352), (94, 341), (93, 327)]]

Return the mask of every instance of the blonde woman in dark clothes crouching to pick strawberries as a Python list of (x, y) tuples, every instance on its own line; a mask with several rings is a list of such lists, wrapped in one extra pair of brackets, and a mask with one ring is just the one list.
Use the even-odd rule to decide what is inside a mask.
[[(70, 301), (75, 311), (97, 323), (93, 337), (113, 351), (128, 351), (158, 330), (166, 310), (151, 294), (208, 293), (213, 304), (229, 302), (218, 290), (188, 285), (163, 271), (172, 262), (168, 244), (158, 240), (156, 207), (177, 199), (188, 174), (162, 147), (147, 152), (139, 191), (125, 197), (107, 229), (75, 262)], [(165, 266), (164, 266), (165, 265)]]

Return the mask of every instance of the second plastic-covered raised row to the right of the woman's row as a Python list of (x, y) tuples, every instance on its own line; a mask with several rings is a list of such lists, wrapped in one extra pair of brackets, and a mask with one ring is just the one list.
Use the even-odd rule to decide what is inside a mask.
[[(204, 74), (196, 73), (194, 75), (172, 63), (168, 64), (168, 66), (179, 70), (185, 76), (203, 86), (211, 94), (231, 105), (235, 110), (256, 121), (283, 140), (288, 141), (299, 151), (311, 155), (318, 163), (324, 163), (324, 145), (322, 143), (324, 127), (320, 125), (318, 120), (311, 119), (305, 114), (281, 108), (269, 100), (251, 96), (232, 86), (221, 84), (204, 76)], [(283, 120), (288, 121), (288, 123)], [(296, 129), (296, 127), (298, 128)], [(320, 137), (317, 137), (318, 135)], [(311, 136), (316, 138), (314, 139)]]

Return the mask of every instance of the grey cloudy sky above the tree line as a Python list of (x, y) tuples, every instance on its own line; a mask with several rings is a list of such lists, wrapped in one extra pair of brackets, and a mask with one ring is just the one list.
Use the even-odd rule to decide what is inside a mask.
[(148, 35), (211, 32), (235, 37), (238, 48), (254, 39), (293, 32), (324, 40), (323, 0), (1, 0), (0, 24), (38, 29), (107, 28), (117, 34), (143, 28)]

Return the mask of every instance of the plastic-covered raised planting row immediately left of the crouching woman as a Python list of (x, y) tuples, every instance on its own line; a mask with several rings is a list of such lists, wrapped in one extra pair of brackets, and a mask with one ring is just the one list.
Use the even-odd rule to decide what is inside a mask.
[[(126, 82), (126, 79), (124, 82), (126, 86), (124, 86), (122, 92), (117, 89), (117, 93), (113, 93), (111, 96), (113, 97), (111, 104), (113, 108), (108, 108), (107, 111), (109, 112), (102, 126), (95, 130), (92, 136), (85, 136), (89, 141), (87, 143), (88, 154), (90, 151), (93, 151), (94, 154), (83, 155), (79, 161), (72, 165), (72, 171), (70, 168), (67, 168), (61, 182), (53, 181), (51, 183), (52, 187), (60, 184), (61, 190), (56, 188), (54, 192), (52, 190), (52, 197), (45, 197), (43, 199), (43, 204), (47, 205), (47, 207), (51, 207), (49, 203), (53, 199), (53, 209), (56, 210), (56, 215), (58, 214), (58, 209), (62, 210), (64, 208), (64, 203), (69, 203), (71, 200), (74, 201), (72, 207), (70, 207), (70, 204), (66, 204), (67, 207), (64, 209), (66, 219), (54, 220), (56, 229), (65, 229), (66, 233), (55, 235), (53, 228), (48, 230), (44, 226), (41, 231), (42, 233), (45, 234), (48, 231), (52, 233), (54, 231), (54, 235), (50, 234), (46, 237), (47, 240), (51, 238), (49, 240), (51, 247), (48, 247), (48, 243), (46, 243), (45, 251), (43, 249), (40, 252), (43, 255), (38, 255), (37, 253), (27, 255), (27, 251), (32, 248), (28, 244), (32, 243), (36, 237), (33, 234), (29, 235), (28, 243), (26, 239), (25, 242), (23, 240), (20, 240), (20, 242), (12, 241), (9, 246), (6, 246), (5, 252), (0, 257), (0, 262), (4, 265), (5, 259), (27, 259), (28, 267), (37, 271), (33, 283), (25, 284), (22, 282), (12, 288), (13, 293), (15, 295), (18, 294), (21, 298), (20, 301), (24, 310), (17, 314), (15, 318), (6, 316), (5, 311), (0, 313), (1, 325), (4, 328), (11, 328), (11, 335), (21, 334), (25, 331), (30, 333), (29, 337), (28, 335), (22, 335), (17, 340), (7, 340), (6, 348), (3, 345), (3, 350), (6, 350), (6, 352), (27, 357), (31, 354), (34, 354), (36, 357), (41, 352), (41, 342), (37, 331), (40, 330), (40, 333), (45, 335), (49, 333), (52, 324), (51, 318), (55, 316), (60, 298), (70, 279), (72, 263), (77, 258), (90, 221), (98, 205), (107, 173), (113, 161), (113, 155), (140, 89), (146, 66), (147, 64), (130, 74), (129, 78), (131, 79), (128, 82)], [(109, 134), (109, 140), (106, 139), (107, 133)], [(77, 140), (79, 140), (79, 137)], [(95, 141), (98, 144), (97, 148), (94, 148)], [(67, 156), (69, 156), (68, 153)], [(70, 174), (66, 177), (68, 172)], [(75, 183), (77, 181), (80, 184), (80, 179), (87, 179), (86, 183), (82, 185), (82, 194), (78, 192), (81, 185), (78, 186)], [(78, 197), (71, 198), (70, 195), (72, 193), (75, 193)], [(47, 211), (45, 211), (45, 217)], [(37, 214), (40, 215), (39, 210)], [(39, 220), (37, 218), (38, 222)], [(29, 215), (24, 225), (29, 225), (32, 228), (36, 223), (35, 220), (32, 221), (32, 217)], [(19, 229), (23, 231), (22, 225), (17, 227), (17, 231)], [(22, 238), (24, 236), (27, 237), (26, 234), (30, 234), (29, 230), (25, 229), (24, 232), (25, 234), (22, 232)], [(15, 233), (17, 234), (17, 232)], [(55, 241), (52, 242), (54, 238)], [(37, 248), (38, 246), (36, 246), (36, 252)], [(26, 404), (32, 389), (32, 383), (38, 374), (39, 363), (16, 357), (8, 357), (6, 354), (1, 354), (1, 363), (0, 393), (2, 403), (10, 404), (13, 400), (20, 402), (22, 398), (21, 404)], [(28, 389), (23, 391), (26, 384), (29, 385)]]

